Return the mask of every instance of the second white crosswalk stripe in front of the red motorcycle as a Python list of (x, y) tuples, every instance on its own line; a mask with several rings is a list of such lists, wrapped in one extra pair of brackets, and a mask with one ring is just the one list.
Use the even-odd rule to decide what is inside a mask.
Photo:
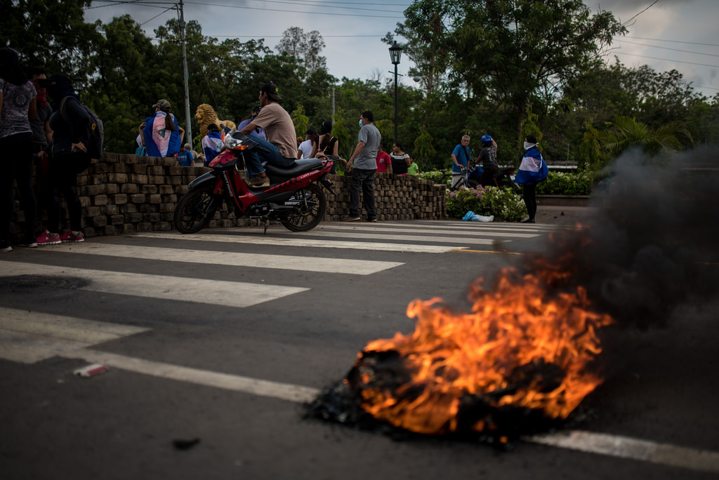
[(198, 264), (223, 264), (236, 267), (257, 267), (302, 272), (347, 273), (369, 275), (403, 265), (400, 262), (375, 262), (371, 260), (331, 259), (324, 257), (292, 257), (289, 255), (265, 255), (233, 253), (230, 251), (206, 251), (158, 248), (152, 246), (117, 245), (109, 243), (88, 243), (78, 247), (73, 244), (61, 244), (55, 247), (59, 251), (72, 251), (75, 254), (106, 255), (109, 257), (127, 257), (165, 262), (189, 262)]

